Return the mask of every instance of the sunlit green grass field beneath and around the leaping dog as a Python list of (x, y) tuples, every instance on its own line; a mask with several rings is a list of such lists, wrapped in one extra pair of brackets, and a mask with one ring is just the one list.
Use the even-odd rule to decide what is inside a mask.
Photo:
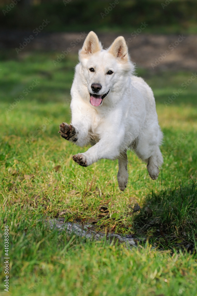
[[(121, 192), (117, 161), (77, 166), (71, 156), (87, 148), (58, 134), (59, 124), (70, 121), (77, 57), (55, 67), (56, 56), (34, 53), (0, 63), (1, 282), (8, 225), (13, 296), (197, 295), (195, 73), (137, 70), (155, 94), (164, 164), (152, 181), (128, 152), (128, 187)], [(141, 209), (133, 213), (136, 203)], [(102, 205), (108, 215), (100, 218)], [(101, 231), (115, 225), (114, 232), (133, 234), (138, 247), (89, 242), (42, 223), (59, 214), (65, 221), (94, 221)], [(7, 295), (4, 284), (0, 289)]]

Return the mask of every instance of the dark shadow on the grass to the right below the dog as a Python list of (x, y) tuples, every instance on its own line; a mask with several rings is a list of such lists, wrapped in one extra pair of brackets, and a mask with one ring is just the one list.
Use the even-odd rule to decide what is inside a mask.
[(148, 195), (133, 219), (134, 231), (155, 247), (184, 248), (194, 252), (197, 241), (196, 181)]

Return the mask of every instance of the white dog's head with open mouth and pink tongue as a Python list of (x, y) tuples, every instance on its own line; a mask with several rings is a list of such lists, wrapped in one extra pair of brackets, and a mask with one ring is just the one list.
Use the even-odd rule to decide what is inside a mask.
[(79, 61), (82, 83), (87, 87), (93, 106), (100, 106), (110, 92), (122, 91), (128, 73), (134, 70), (124, 37), (119, 36), (107, 50), (103, 50), (92, 31), (79, 50)]

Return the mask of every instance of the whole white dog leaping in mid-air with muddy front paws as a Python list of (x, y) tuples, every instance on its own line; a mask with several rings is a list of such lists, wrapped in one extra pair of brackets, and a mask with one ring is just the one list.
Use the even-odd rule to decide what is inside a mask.
[(63, 138), (79, 146), (92, 146), (73, 156), (79, 165), (86, 167), (102, 158), (118, 159), (117, 178), (122, 191), (128, 182), (128, 149), (147, 163), (153, 180), (163, 162), (154, 95), (133, 71), (122, 36), (103, 50), (91, 31), (79, 50), (71, 88), (72, 123), (60, 125)]

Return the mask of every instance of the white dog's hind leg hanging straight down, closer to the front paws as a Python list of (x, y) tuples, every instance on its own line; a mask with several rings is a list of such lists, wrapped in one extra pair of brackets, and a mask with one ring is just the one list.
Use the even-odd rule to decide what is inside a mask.
[(118, 185), (119, 188), (124, 191), (128, 182), (128, 172), (127, 172), (127, 154), (126, 150), (121, 152), (120, 156), (118, 156)]

